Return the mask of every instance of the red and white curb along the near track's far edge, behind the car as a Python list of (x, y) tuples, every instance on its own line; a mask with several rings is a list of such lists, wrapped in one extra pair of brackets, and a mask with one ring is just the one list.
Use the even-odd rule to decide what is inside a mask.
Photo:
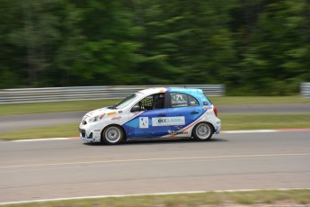
[[(310, 132), (310, 128), (306, 129), (282, 129), (282, 130), (222, 130), (221, 134), (244, 134), (244, 133), (274, 133), (274, 132)], [(45, 139), (19, 139), (12, 140), (14, 142), (24, 141), (46, 141), (46, 140), (68, 140), (68, 139), (80, 139), (79, 137), (69, 138), (45, 138)]]

